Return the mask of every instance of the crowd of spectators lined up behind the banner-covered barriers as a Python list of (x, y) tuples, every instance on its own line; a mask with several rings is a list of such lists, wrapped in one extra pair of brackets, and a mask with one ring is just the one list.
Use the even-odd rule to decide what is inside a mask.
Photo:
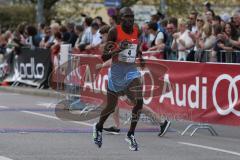
[[(35, 27), (21, 23), (15, 31), (0, 34), (0, 55), (19, 46), (50, 48), (53, 54), (59, 53), (61, 44), (71, 44), (79, 52), (101, 50), (109, 29), (117, 24), (117, 15), (110, 16), (107, 23), (101, 16), (86, 16), (82, 24), (54, 22)], [(240, 63), (240, 10), (232, 16), (216, 15), (211, 4), (206, 3), (203, 13), (193, 11), (187, 18), (155, 14), (139, 28), (142, 51), (158, 52), (161, 56), (156, 54), (156, 58)]]

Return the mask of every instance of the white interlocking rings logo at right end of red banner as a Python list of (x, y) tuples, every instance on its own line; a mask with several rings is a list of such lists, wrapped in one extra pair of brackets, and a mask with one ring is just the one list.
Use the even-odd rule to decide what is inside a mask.
[[(227, 109), (223, 109), (223, 106), (219, 106), (219, 104), (217, 102), (217, 96), (216, 96), (216, 91), (219, 86), (219, 83), (223, 80), (227, 80), (230, 82), (228, 90), (227, 90), (228, 104), (229, 104)], [(237, 116), (240, 116), (240, 111), (236, 110), (236, 108), (235, 108), (237, 106), (237, 102), (239, 100), (238, 89), (240, 89), (240, 88), (238, 88), (238, 86), (237, 86), (238, 81), (240, 81), (240, 75), (233, 78), (232, 76), (230, 76), (228, 74), (222, 74), (214, 82), (213, 90), (212, 90), (213, 105), (215, 106), (215, 108), (217, 109), (217, 112), (220, 115), (228, 115), (229, 113), (233, 113)], [(232, 96), (232, 93), (233, 93), (233, 96)]]

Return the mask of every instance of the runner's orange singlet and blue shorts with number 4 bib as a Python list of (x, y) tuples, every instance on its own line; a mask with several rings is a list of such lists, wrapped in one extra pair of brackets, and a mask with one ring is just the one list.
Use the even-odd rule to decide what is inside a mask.
[(111, 70), (108, 73), (108, 89), (114, 92), (123, 91), (133, 79), (141, 76), (136, 64), (138, 45), (138, 28), (134, 26), (132, 34), (126, 34), (120, 25), (117, 26), (117, 43), (129, 41), (132, 44), (112, 57)]

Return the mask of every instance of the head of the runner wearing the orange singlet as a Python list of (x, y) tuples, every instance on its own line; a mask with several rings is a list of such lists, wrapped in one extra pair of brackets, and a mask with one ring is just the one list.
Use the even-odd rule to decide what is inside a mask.
[(124, 7), (120, 10), (121, 25), (127, 30), (131, 30), (134, 25), (134, 14), (129, 7)]

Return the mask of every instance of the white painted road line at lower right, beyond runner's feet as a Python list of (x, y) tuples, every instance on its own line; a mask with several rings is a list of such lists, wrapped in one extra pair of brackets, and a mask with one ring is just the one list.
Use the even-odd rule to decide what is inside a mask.
[(210, 147), (210, 146), (204, 146), (204, 145), (199, 145), (199, 144), (193, 144), (193, 143), (186, 143), (186, 142), (178, 142), (178, 143), (182, 144), (182, 145), (187, 145), (187, 146), (192, 146), (192, 147), (197, 147), (197, 148), (203, 148), (203, 149), (208, 149), (208, 150), (212, 150), (212, 151), (228, 153), (228, 154), (232, 154), (232, 155), (235, 155), (235, 156), (240, 156), (240, 153), (238, 153), (238, 152), (229, 151), (229, 150), (225, 150), (225, 149), (220, 149), (220, 148), (215, 148), (215, 147)]

